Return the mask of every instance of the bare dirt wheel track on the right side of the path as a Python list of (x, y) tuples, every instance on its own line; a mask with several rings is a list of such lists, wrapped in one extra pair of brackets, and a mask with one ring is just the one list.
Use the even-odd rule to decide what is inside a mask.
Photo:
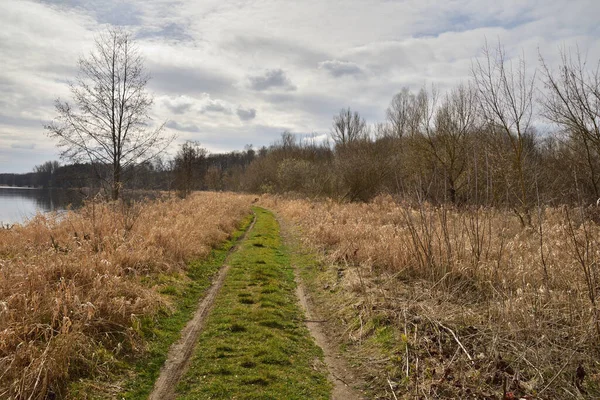
[(358, 384), (358, 380), (352, 373), (346, 360), (342, 358), (336, 347), (327, 339), (327, 334), (323, 326), (326, 322), (314, 313), (306, 289), (297, 274), (296, 283), (298, 285), (296, 295), (306, 315), (306, 326), (325, 355), (325, 364), (329, 371), (329, 379), (333, 383), (332, 400), (365, 399), (357, 389), (353, 388), (353, 386)]

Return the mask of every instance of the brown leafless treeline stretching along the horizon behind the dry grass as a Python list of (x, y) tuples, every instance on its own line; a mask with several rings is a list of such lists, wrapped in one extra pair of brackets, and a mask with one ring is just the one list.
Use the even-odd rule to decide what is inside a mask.
[[(540, 57), (534, 73), (523, 60), (507, 59), (500, 45), (485, 47), (470, 81), (443, 94), (435, 87), (404, 88), (384, 122), (370, 125), (347, 108), (334, 116), (326, 142), (284, 132), (268, 148), (228, 154), (187, 142), (171, 160), (130, 168), (126, 185), (182, 195), (293, 192), (341, 201), (388, 193), (434, 204), (506, 207), (527, 223), (538, 204), (600, 198), (598, 64), (590, 68), (567, 50), (560, 60), (554, 71)], [(73, 186), (81, 176), (94, 176), (95, 184), (103, 179), (93, 165), (54, 163), (19, 179)]]

